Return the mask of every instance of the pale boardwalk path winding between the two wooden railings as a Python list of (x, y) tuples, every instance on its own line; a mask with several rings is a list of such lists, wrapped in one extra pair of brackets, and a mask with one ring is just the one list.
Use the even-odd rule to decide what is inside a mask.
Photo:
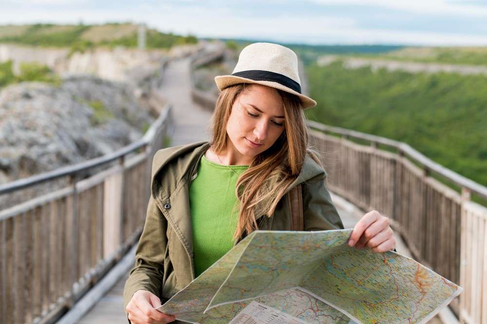
[[(176, 128), (172, 145), (181, 145), (208, 138), (206, 132), (211, 114), (194, 104), (190, 95), (189, 59), (180, 59), (169, 64), (164, 72), (161, 93), (173, 104)], [(353, 207), (334, 196), (338, 212), (345, 228), (353, 227), (359, 214)], [(398, 248), (399, 250), (399, 248)], [(400, 250), (399, 250), (400, 251)], [(135, 259), (133, 261), (135, 263)], [(128, 273), (95, 305), (78, 324), (126, 324), (123, 309), (123, 288)]]

